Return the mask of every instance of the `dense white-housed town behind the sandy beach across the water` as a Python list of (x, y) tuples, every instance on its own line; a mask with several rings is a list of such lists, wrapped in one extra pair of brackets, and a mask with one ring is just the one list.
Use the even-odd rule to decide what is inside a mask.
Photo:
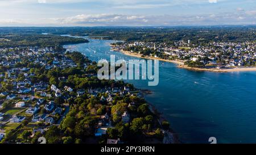
[(113, 51), (131, 56), (176, 61), (181, 68), (228, 70), (256, 65), (255, 41), (243, 43), (210, 42), (193, 44), (191, 40), (164, 42), (124, 41), (112, 44)]

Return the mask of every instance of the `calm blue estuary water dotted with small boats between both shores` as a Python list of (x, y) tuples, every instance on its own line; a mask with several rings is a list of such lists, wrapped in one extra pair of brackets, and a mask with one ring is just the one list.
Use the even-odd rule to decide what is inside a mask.
[[(111, 52), (112, 42), (90, 40), (65, 48), (94, 61), (109, 60), (110, 55), (116, 60), (135, 58)], [(153, 92), (146, 100), (163, 112), (183, 143), (208, 143), (212, 136), (217, 143), (256, 143), (256, 72), (192, 72), (159, 63), (158, 86), (148, 87), (143, 80), (129, 82)]]

